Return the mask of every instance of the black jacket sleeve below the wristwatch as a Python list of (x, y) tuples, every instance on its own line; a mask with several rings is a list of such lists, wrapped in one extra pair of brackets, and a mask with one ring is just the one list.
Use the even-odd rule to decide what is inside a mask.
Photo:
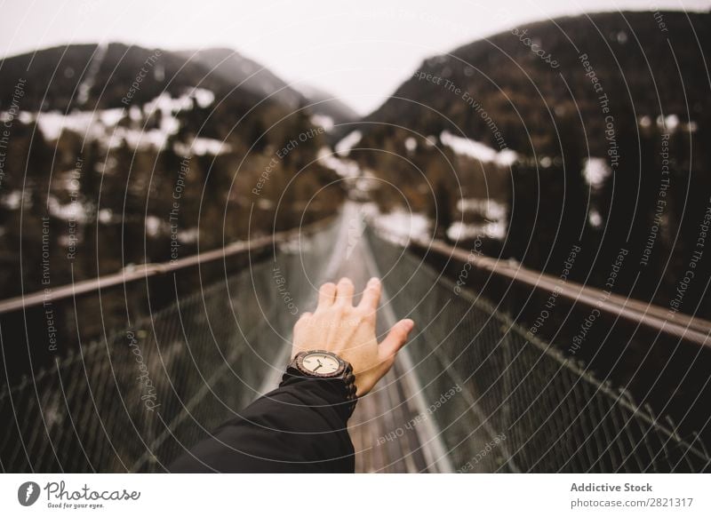
[(339, 379), (284, 376), (273, 392), (180, 456), (182, 473), (352, 473), (350, 409)]

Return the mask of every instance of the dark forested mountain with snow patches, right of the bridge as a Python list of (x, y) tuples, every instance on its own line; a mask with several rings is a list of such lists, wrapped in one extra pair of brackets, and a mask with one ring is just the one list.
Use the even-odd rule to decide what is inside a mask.
[[(611, 289), (668, 306), (709, 209), (710, 21), (512, 28), (425, 60), (340, 146), (357, 142), (348, 158), (379, 179), (380, 205), (407, 203), (444, 238), (555, 275), (580, 245), (571, 280), (603, 288), (626, 250)], [(711, 315), (709, 261), (681, 310)]]

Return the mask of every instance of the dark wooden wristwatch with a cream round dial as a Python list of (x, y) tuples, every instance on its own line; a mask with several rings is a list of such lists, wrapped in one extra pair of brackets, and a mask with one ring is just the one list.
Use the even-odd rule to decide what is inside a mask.
[(308, 350), (300, 352), (292, 359), (286, 368), (287, 375), (304, 378), (322, 378), (342, 380), (348, 401), (348, 415), (356, 409), (356, 376), (348, 361), (343, 361), (338, 355), (325, 350)]

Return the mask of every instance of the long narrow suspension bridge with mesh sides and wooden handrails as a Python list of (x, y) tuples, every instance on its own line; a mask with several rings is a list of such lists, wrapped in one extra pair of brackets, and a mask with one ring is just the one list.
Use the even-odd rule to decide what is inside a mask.
[[(498, 292), (503, 285), (517, 293), (558, 290), (583, 312), (601, 306), (595, 290), (444, 243), (394, 238), (360, 214), (347, 203), (339, 217), (314, 227), (56, 288), (51, 302), (67, 306), (76, 340), (60, 354), (32, 349), (30, 336), (44, 320), (27, 314), (33, 307), (42, 314), (46, 293), (0, 302), (7, 379), (0, 468), (164, 472), (278, 384), (293, 323), (316, 306), (321, 283), (348, 276), (357, 290), (378, 276), (379, 335), (403, 317), (417, 327), (350, 420), (357, 472), (709, 470), (704, 420), (687, 431), (655, 414), (555, 340), (531, 335), (512, 306), (483, 296), (473, 279), (479, 274)], [(208, 266), (221, 277), (208, 282)], [(471, 283), (457, 282), (463, 268)], [(197, 283), (181, 278), (188, 271)], [(132, 289), (146, 292), (148, 310), (128, 307)], [(163, 302), (153, 310), (157, 298)], [(103, 314), (122, 306), (124, 325), (103, 324)], [(659, 308), (614, 297), (601, 307), (615, 321), (706, 353), (707, 322), (664, 322)], [(100, 330), (84, 341), (77, 329), (90, 322)], [(13, 375), (16, 368), (24, 376)]]

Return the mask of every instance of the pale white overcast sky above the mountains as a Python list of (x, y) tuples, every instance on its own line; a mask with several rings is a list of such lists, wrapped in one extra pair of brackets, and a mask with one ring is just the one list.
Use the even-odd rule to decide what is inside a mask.
[(711, 0), (0, 0), (0, 55), (120, 41), (222, 46), (370, 112), (428, 56), (580, 12), (708, 10)]

